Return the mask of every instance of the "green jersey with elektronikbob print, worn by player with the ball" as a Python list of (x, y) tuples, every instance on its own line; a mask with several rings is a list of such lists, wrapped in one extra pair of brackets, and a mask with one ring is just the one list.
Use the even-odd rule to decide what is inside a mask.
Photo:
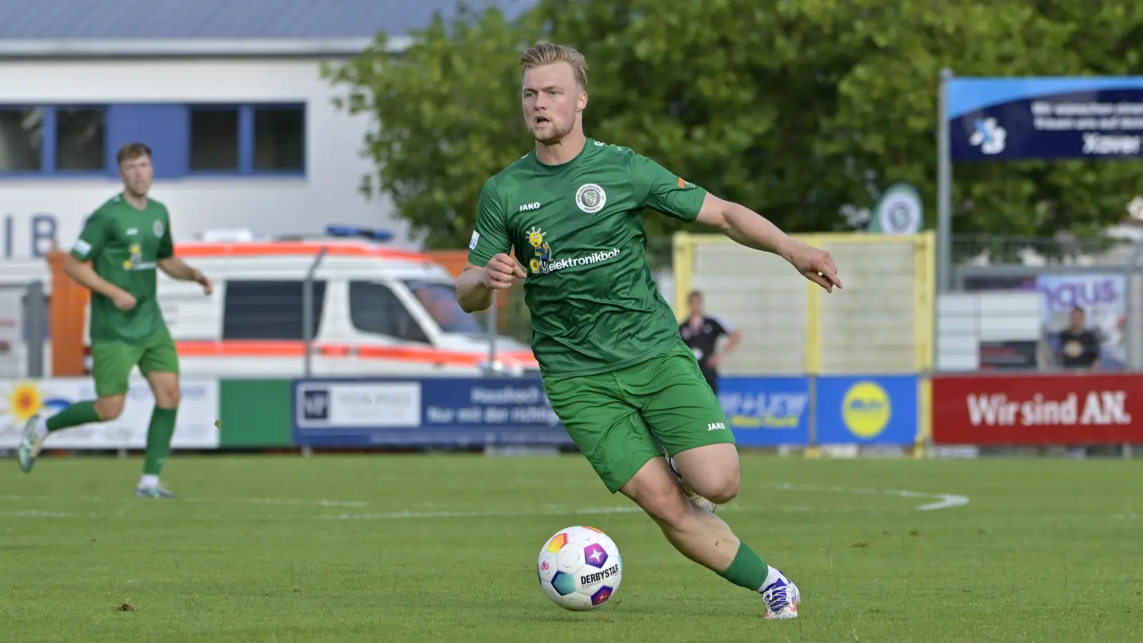
[(680, 341), (647, 264), (642, 213), (694, 221), (705, 196), (630, 148), (589, 138), (554, 166), (533, 151), (485, 183), (469, 261), (515, 248), (545, 376), (623, 368)]

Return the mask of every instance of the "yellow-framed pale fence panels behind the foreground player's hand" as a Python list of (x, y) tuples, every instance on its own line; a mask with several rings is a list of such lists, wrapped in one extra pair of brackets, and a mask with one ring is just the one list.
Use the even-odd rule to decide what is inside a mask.
[(728, 375), (918, 373), (933, 355), (932, 232), (796, 235), (826, 248), (844, 293), (828, 296), (781, 257), (722, 235), (677, 233), (676, 307), (692, 288), (742, 332)]

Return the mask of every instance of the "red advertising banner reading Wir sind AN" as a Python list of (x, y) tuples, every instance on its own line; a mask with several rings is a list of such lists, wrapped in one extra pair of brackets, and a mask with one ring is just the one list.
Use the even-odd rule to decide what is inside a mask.
[(938, 375), (936, 444), (1143, 444), (1143, 374)]

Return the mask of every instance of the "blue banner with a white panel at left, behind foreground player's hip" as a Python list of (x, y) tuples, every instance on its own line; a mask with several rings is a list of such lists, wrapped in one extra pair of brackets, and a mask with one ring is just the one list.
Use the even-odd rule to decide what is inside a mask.
[(539, 378), (294, 381), (299, 446), (572, 444)]

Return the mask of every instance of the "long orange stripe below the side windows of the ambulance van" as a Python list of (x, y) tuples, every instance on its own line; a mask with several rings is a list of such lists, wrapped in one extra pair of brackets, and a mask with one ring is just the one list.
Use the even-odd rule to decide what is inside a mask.
[[(175, 342), (181, 357), (304, 357), (305, 343), (291, 341), (179, 341)], [(315, 344), (317, 354), (327, 358), (389, 359), (426, 364), (475, 366), (488, 359), (485, 352), (459, 352), (431, 348), (350, 344)], [(502, 351), (502, 362), (521, 366), (536, 366), (531, 351)]]

